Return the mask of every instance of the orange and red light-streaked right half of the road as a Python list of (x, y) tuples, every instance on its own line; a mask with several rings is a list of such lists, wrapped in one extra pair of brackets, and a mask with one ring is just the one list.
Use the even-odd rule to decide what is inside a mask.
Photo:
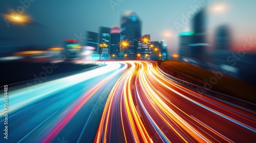
[(240, 111), (172, 81), (155, 62), (125, 63), (131, 67), (110, 92), (94, 142), (252, 142), (256, 138), (254, 112)]

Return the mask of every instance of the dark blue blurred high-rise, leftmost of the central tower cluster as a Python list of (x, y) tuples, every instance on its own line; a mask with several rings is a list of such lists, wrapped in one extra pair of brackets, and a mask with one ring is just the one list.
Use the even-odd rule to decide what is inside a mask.
[(95, 47), (93, 54), (99, 54), (99, 34), (96, 32), (87, 31), (86, 45)]

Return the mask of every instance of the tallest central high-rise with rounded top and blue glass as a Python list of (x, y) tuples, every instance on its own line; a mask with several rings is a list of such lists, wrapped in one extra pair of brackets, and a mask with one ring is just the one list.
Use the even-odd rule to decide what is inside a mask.
[(127, 59), (137, 58), (138, 41), (141, 38), (141, 20), (135, 12), (126, 11), (121, 15), (120, 41), (127, 40), (130, 45), (122, 49), (127, 54)]

